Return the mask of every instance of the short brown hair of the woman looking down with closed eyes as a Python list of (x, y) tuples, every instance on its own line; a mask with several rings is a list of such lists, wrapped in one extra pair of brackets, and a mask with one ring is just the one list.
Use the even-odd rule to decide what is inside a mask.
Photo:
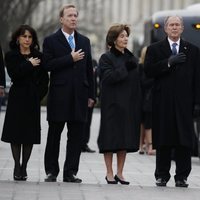
[(114, 46), (115, 40), (118, 38), (119, 34), (124, 30), (127, 32), (129, 36), (130, 28), (127, 24), (116, 24), (116, 25), (111, 26), (106, 36), (106, 44), (109, 47)]

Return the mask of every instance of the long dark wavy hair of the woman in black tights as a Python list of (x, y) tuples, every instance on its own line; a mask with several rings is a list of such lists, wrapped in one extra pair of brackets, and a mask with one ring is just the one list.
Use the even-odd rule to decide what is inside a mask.
[(32, 41), (32, 44), (30, 46), (31, 51), (33, 49), (37, 49), (37, 50), (40, 49), (36, 31), (31, 26), (26, 25), (26, 24), (20, 25), (17, 28), (17, 30), (15, 32), (13, 32), (13, 34), (11, 36), (11, 41), (9, 43), (9, 46), (10, 46), (11, 49), (18, 49), (19, 48), (19, 44), (17, 42), (17, 39), (20, 35), (24, 35), (24, 33), (26, 31), (29, 31), (30, 34), (32, 35), (33, 41)]

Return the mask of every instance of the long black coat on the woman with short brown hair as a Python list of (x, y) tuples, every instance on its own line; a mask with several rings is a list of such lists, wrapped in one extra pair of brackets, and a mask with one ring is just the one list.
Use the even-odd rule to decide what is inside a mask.
[[(126, 62), (133, 58), (127, 70)], [(137, 61), (125, 50), (115, 48), (99, 60), (101, 77), (101, 121), (98, 137), (100, 153), (138, 150), (141, 117), (141, 88)]]

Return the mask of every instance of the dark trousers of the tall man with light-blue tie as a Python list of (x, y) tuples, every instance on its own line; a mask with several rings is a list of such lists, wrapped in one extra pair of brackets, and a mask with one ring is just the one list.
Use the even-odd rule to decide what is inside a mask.
[[(57, 176), (59, 168), (60, 138), (66, 122), (50, 122), (45, 149), (45, 172)], [(81, 144), (83, 137), (83, 122), (67, 122), (66, 158), (63, 168), (63, 178), (72, 174), (76, 175), (79, 168)]]

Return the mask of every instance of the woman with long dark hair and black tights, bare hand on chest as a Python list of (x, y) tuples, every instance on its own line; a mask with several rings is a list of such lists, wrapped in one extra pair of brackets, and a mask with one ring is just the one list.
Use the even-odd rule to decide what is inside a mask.
[(11, 144), (14, 180), (26, 180), (33, 144), (40, 144), (40, 101), (47, 93), (49, 80), (32, 27), (21, 25), (12, 34), (5, 63), (12, 85), (1, 140)]

